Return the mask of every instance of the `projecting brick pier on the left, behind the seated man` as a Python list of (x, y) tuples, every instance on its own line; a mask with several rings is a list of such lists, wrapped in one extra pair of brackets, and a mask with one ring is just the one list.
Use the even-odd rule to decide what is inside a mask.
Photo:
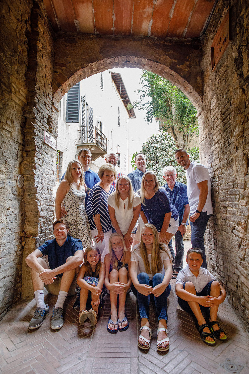
[(53, 105), (53, 31), (43, 4), (34, 1), (28, 33), (28, 102), (24, 108), (24, 157), (21, 165), (24, 184), (25, 245), (22, 270), (22, 297), (32, 295), (30, 269), (25, 257), (53, 230), (56, 150), (44, 143), (44, 130), (57, 138), (58, 109)]

